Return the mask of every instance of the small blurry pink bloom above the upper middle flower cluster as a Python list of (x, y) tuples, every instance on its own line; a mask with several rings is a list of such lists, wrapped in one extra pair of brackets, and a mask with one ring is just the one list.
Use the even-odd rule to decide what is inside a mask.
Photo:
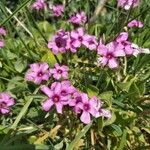
[(87, 17), (85, 12), (80, 12), (80, 13), (76, 13), (74, 16), (71, 16), (69, 19), (69, 22), (73, 23), (73, 24), (83, 24), (87, 21)]

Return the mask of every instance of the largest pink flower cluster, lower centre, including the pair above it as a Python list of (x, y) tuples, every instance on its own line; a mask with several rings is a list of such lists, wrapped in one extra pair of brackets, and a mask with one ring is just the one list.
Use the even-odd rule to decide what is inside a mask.
[(25, 75), (27, 81), (40, 84), (43, 80), (48, 81), (50, 76), (56, 80), (51, 86), (41, 86), (41, 91), (47, 95), (48, 99), (42, 103), (45, 111), (50, 111), (54, 105), (58, 113), (62, 114), (63, 106), (70, 106), (76, 114), (81, 114), (81, 121), (90, 123), (93, 117), (111, 117), (111, 113), (102, 108), (102, 102), (96, 97), (88, 98), (87, 94), (79, 92), (68, 79), (69, 68), (65, 65), (55, 64), (54, 68), (49, 68), (48, 64), (31, 64)]

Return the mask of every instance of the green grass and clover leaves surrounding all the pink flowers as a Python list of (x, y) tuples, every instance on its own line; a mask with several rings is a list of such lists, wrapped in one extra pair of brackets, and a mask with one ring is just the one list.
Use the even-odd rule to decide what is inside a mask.
[[(84, 48), (76, 54), (54, 56), (47, 48), (52, 35), (60, 28), (73, 29), (67, 20), (77, 11), (85, 11), (90, 20), (99, 1), (47, 2), (66, 2), (63, 17), (53, 18), (50, 10), (34, 12), (31, 0), (19, 0), (16, 6), (11, 5), (12, 1), (10, 5), (5, 0), (0, 2), (0, 26), (8, 30), (5, 47), (0, 49), (0, 91), (8, 91), (16, 99), (13, 113), (0, 118), (2, 150), (149, 149), (150, 55), (129, 57), (127, 62), (121, 60), (117, 70), (98, 67), (95, 52)], [(129, 20), (139, 19), (145, 27), (129, 29), (129, 38), (140, 47), (150, 48), (149, 8), (149, 1), (143, 0), (129, 13), (117, 8), (117, 1), (109, 0), (96, 20), (84, 27), (107, 43), (119, 32), (126, 31), (124, 27)], [(46, 98), (38, 86), (24, 80), (29, 64), (34, 62), (47, 62), (50, 67), (57, 62), (67, 64), (74, 86), (87, 92), (89, 97), (103, 100), (112, 112), (111, 119), (97, 118), (85, 126), (70, 110), (64, 110), (62, 116), (55, 110), (43, 112), (41, 103)], [(56, 128), (59, 125), (60, 128)], [(37, 144), (37, 141), (40, 142)]]

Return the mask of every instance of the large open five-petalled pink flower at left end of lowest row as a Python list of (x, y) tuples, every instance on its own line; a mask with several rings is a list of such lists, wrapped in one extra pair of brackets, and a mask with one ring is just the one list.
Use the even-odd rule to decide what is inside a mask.
[(55, 105), (57, 112), (62, 114), (63, 106), (68, 104), (69, 93), (62, 93), (64, 87), (60, 82), (55, 82), (54, 85), (51, 88), (45, 85), (41, 87), (41, 91), (48, 96), (48, 99), (42, 103), (42, 108), (49, 111)]

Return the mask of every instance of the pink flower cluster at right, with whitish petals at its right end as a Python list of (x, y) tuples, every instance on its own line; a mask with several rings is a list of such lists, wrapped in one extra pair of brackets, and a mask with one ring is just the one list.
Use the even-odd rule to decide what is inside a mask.
[(137, 55), (140, 53), (139, 48), (128, 40), (128, 33), (121, 32), (120, 35), (106, 45), (99, 43), (97, 53), (100, 55), (98, 63), (109, 68), (117, 68), (119, 65), (118, 58), (124, 56)]

